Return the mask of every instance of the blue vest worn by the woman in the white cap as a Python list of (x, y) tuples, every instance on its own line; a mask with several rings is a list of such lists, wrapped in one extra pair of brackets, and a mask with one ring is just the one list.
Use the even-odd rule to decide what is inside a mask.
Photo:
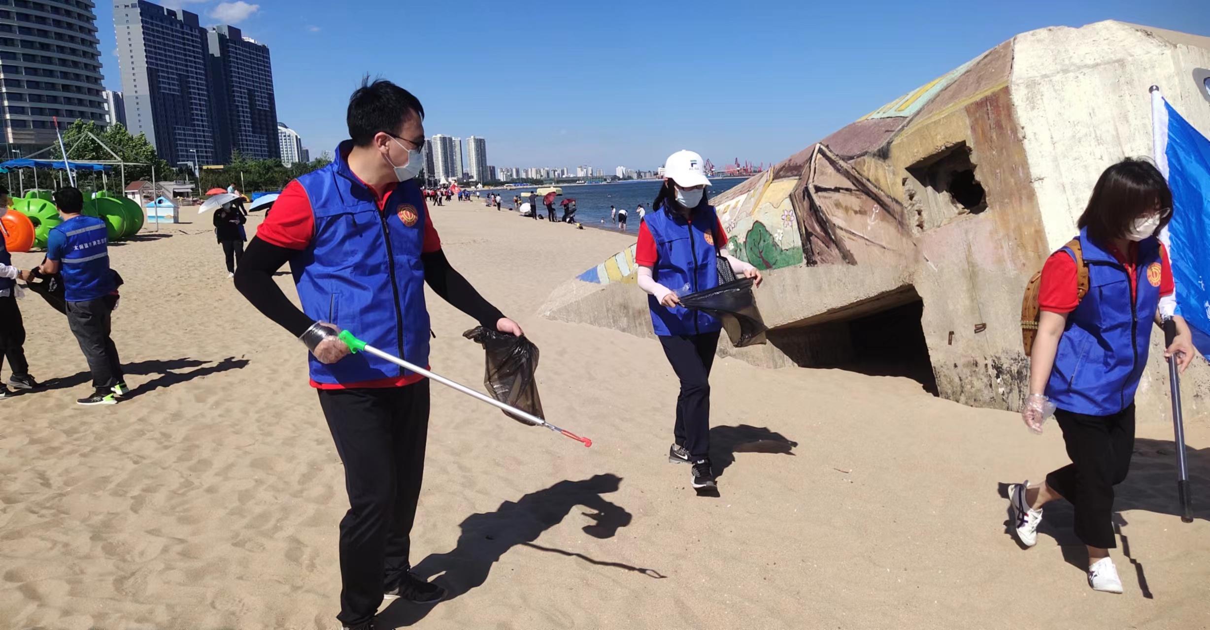
[[(692, 221), (664, 206), (647, 213), (645, 222), (656, 241), (656, 266), (652, 279), (676, 291), (678, 295), (704, 291), (719, 285), (714, 247), (714, 226), (718, 224), (714, 206), (702, 203), (693, 209)], [(687, 290), (681, 290), (685, 285)], [(656, 335), (696, 335), (722, 329), (722, 322), (702, 311), (681, 306), (668, 308), (647, 296), (651, 328)]]

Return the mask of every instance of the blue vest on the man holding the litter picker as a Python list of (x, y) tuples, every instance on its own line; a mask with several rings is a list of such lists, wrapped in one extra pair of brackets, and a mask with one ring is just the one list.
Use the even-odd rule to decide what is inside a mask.
[[(307, 317), (350, 330), (370, 346), (428, 366), (425, 307), (425, 201), (414, 180), (399, 184), (379, 210), (374, 193), (348, 169), (352, 141), (336, 160), (298, 179), (311, 201), (315, 237), (290, 271)], [(311, 380), (356, 383), (408, 376), (364, 352), (325, 365), (310, 356)]]

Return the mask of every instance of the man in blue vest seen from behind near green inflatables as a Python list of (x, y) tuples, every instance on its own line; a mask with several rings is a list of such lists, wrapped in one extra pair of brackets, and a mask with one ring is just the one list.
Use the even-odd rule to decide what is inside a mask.
[(63, 222), (47, 235), (46, 261), (39, 271), (63, 276), (68, 328), (80, 342), (92, 371), (93, 393), (76, 403), (113, 405), (128, 389), (122, 380), (117, 347), (109, 336), (117, 282), (109, 268), (105, 221), (80, 214), (83, 195), (71, 186), (57, 190), (53, 198)]

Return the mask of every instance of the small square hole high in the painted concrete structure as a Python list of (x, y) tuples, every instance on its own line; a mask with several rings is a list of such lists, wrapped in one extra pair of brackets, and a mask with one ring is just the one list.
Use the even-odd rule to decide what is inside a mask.
[(987, 192), (975, 177), (970, 148), (958, 143), (908, 167), (908, 195), (922, 213), (922, 229), (944, 225), (960, 214), (987, 209)]

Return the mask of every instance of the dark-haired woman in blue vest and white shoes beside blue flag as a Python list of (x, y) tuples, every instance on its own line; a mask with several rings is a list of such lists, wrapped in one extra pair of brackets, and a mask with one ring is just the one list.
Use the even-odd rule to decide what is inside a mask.
[[(1113, 164), (1093, 189), (1077, 239), (1051, 254), (1041, 272), (1021, 417), (1041, 433), (1054, 409), (1071, 463), (1041, 484), (1009, 486), (1013, 526), (1021, 544), (1033, 547), (1042, 507), (1066, 498), (1076, 508), (1076, 536), (1088, 548), (1088, 583), (1106, 593), (1122, 593), (1108, 550), (1117, 547), (1113, 486), (1125, 479), (1134, 450), (1135, 389), (1152, 322), (1175, 306), (1168, 252), (1156, 237), (1171, 214), (1172, 193), (1154, 166)], [(1185, 319), (1172, 320), (1177, 336), (1164, 356), (1183, 371), (1193, 359), (1192, 337)]]

